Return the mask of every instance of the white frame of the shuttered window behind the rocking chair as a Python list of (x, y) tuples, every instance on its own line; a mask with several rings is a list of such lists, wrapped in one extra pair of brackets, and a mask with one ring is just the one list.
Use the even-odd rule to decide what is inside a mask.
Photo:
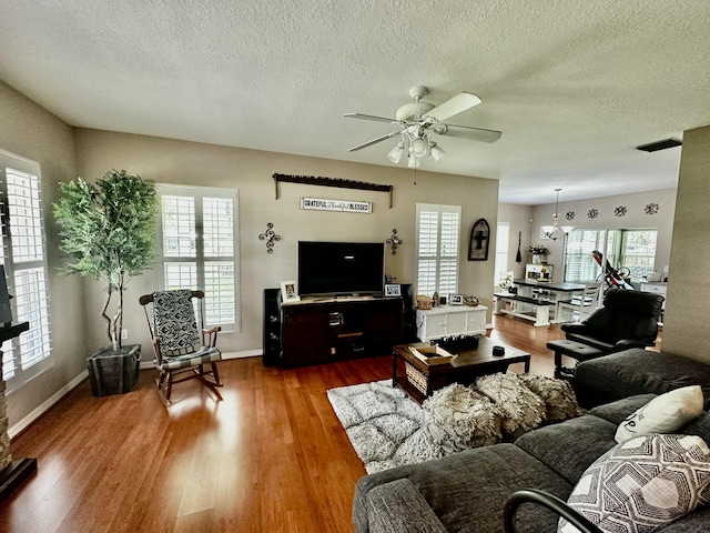
[[(168, 289), (168, 281), (165, 279), (165, 268), (169, 263), (194, 263), (196, 265), (196, 279), (195, 284), (173, 284), (169, 289), (200, 289), (205, 293), (204, 308), (205, 308), (205, 325), (214, 326), (220, 325), (223, 332), (240, 332), (242, 331), (242, 313), (241, 313), (241, 282), (240, 282), (240, 238), (239, 238), (239, 190), (216, 188), (216, 187), (197, 187), (197, 185), (175, 185), (171, 183), (158, 183), (156, 184), (158, 201), (159, 201), (159, 220), (158, 220), (158, 245), (156, 245), (156, 263), (158, 263), (158, 279), (161, 290)], [(191, 198), (194, 202), (194, 255), (165, 255), (164, 250), (164, 229), (163, 229), (163, 198), (164, 197), (185, 197)], [(227, 199), (232, 201), (232, 255), (205, 255), (205, 239), (204, 239), (204, 200), (205, 199)], [(233, 263), (234, 272), (234, 291), (221, 292), (226, 298), (226, 303), (220, 302), (220, 298), (215, 296), (214, 291), (210, 291), (205, 286), (207, 275), (205, 273), (206, 265), (209, 263)], [(230, 299), (233, 301), (234, 308), (234, 321), (233, 322), (219, 322), (210, 319), (211, 309), (219, 309), (229, 305)]]

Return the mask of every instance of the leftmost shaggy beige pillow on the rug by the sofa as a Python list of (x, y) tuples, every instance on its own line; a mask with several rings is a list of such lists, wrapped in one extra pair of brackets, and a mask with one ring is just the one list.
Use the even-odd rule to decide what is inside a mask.
[(470, 386), (454, 383), (434, 391), (422, 408), (425, 431), (446, 453), (500, 440), (500, 411)]

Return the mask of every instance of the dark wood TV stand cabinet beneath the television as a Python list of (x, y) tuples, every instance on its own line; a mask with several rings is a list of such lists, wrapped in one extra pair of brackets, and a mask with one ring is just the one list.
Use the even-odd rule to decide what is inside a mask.
[(402, 339), (400, 298), (314, 298), (281, 311), (284, 366), (386, 355)]

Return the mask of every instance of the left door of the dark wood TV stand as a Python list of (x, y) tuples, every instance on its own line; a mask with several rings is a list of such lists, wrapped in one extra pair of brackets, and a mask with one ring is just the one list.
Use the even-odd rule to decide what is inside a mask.
[(328, 311), (322, 305), (283, 306), (283, 365), (301, 366), (329, 361)]

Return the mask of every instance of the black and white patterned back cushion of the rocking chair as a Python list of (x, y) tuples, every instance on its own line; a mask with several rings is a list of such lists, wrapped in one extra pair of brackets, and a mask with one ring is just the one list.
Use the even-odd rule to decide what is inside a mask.
[(187, 355), (200, 351), (202, 342), (192, 306), (192, 291), (181, 289), (154, 292), (153, 320), (154, 335), (160, 339), (164, 356)]

